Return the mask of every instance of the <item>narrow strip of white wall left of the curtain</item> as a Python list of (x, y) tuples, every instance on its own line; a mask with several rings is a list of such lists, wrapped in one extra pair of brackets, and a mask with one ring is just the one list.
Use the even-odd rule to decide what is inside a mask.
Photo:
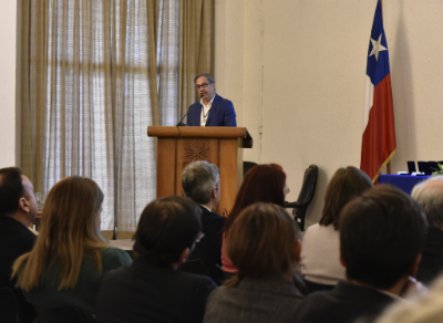
[(17, 8), (17, 0), (0, 3), (0, 168), (17, 165), (20, 150), (16, 134), (16, 122), (20, 122), (16, 118)]

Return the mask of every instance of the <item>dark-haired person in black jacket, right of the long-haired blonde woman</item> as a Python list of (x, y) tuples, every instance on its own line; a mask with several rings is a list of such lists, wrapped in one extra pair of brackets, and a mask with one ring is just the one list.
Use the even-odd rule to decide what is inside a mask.
[(183, 197), (147, 205), (134, 235), (134, 262), (106, 274), (100, 290), (100, 323), (202, 322), (216, 284), (177, 271), (200, 237), (200, 208)]

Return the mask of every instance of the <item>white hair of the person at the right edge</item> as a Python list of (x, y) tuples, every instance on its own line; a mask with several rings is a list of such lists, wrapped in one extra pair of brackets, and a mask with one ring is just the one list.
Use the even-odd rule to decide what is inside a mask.
[(429, 225), (443, 229), (443, 176), (415, 185), (411, 196), (422, 206)]

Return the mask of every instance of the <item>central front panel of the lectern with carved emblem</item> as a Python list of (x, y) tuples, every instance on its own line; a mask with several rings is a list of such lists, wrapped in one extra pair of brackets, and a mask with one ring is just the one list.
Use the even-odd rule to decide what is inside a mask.
[(218, 139), (181, 138), (177, 140), (176, 195), (183, 196), (182, 173), (187, 164), (194, 160), (206, 160), (218, 166)]

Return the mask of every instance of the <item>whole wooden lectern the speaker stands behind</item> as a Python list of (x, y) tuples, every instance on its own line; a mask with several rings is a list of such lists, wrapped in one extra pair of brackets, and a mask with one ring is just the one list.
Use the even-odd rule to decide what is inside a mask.
[(220, 170), (216, 211), (225, 217), (230, 212), (243, 179), (241, 148), (253, 147), (246, 128), (150, 126), (147, 135), (157, 137), (157, 198), (183, 196), (183, 168), (194, 160), (207, 160)]

